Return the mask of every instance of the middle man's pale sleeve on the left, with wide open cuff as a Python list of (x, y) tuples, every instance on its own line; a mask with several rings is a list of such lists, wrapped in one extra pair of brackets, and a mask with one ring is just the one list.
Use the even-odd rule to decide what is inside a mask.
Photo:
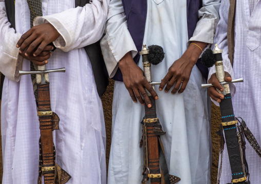
[(101, 49), (109, 77), (118, 69), (120, 59), (128, 52), (134, 57), (138, 51), (128, 31), (126, 15), (121, 0), (111, 0), (105, 23)]

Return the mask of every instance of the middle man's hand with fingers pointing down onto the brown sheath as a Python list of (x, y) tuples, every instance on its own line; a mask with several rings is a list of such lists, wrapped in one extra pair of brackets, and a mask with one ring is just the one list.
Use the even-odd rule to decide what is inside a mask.
[[(134, 62), (132, 54), (130, 54), (130, 52), (122, 57), (119, 62), (119, 68), (122, 72), (123, 83), (127, 88), (130, 97), (132, 97), (132, 100), (137, 103), (138, 99), (142, 105), (144, 105), (145, 100), (147, 107), (151, 108), (152, 105), (150, 98), (148, 98), (147, 92), (144, 88), (146, 88), (155, 99), (158, 99), (157, 93), (144, 77), (143, 71)], [(144, 98), (144, 100), (141, 96)]]

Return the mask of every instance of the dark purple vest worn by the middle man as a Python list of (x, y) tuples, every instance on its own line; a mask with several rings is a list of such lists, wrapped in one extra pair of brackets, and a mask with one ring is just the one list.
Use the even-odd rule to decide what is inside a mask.
[[(125, 10), (127, 25), (130, 35), (133, 38), (135, 46), (138, 51), (142, 49), (142, 42), (145, 32), (145, 23), (147, 15), (147, 1), (146, 0), (122, 0)], [(192, 37), (198, 22), (198, 10), (202, 7), (202, 0), (187, 0), (187, 24), (188, 24), (188, 37)], [(164, 48), (163, 48), (164, 49)], [(134, 57), (137, 64), (139, 62), (139, 53)], [(197, 67), (204, 76), (208, 77), (208, 69), (201, 63), (201, 59), (197, 62)], [(118, 69), (114, 80), (123, 81), (121, 70)]]

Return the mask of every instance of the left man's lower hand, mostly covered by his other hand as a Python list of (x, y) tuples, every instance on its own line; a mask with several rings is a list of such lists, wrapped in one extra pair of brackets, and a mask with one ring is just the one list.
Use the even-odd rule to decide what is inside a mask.
[(30, 55), (26, 56), (25, 51), (22, 53), (19, 53), (19, 55), (21, 55), (25, 59), (30, 60), (35, 65), (42, 66), (42, 65), (45, 65), (48, 63), (47, 59), (49, 59), (50, 56), (52, 55), (50, 52), (52, 49), (53, 49), (52, 46), (46, 46), (38, 56), (33, 56), (32, 53)]

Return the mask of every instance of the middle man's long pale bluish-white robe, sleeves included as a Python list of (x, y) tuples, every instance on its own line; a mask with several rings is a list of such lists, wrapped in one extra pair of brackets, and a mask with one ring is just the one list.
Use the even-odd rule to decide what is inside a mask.
[[(219, 2), (203, 1), (203, 6), (208, 5), (211, 6), (199, 11), (199, 16), (203, 18), (191, 40), (213, 43)], [(152, 66), (153, 81), (160, 81), (187, 49), (187, 1), (149, 0), (147, 7), (143, 44), (159, 45), (164, 49), (163, 62)], [(137, 53), (127, 31), (121, 0), (110, 2), (106, 35), (101, 40), (101, 46), (110, 76), (114, 75), (123, 55), (128, 51), (132, 51), (133, 56)], [(141, 59), (138, 65), (143, 69)], [(207, 89), (201, 89), (203, 83), (206, 80), (194, 66), (182, 94), (160, 92), (158, 86), (155, 87), (159, 97), (156, 100), (157, 117), (166, 132), (161, 140), (167, 167), (171, 175), (181, 178), (180, 184), (210, 183), (212, 146)], [(144, 114), (144, 106), (135, 104), (124, 84), (116, 81), (108, 184), (141, 182), (143, 148), (139, 147), (139, 142), (142, 135), (140, 122)]]

